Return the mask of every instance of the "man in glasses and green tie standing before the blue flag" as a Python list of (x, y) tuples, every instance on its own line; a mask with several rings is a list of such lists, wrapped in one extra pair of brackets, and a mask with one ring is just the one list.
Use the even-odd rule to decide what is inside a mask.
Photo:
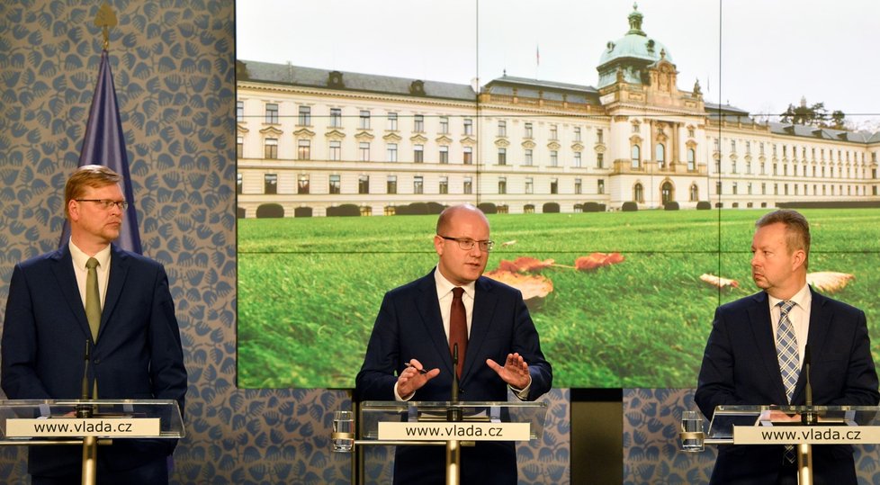
[[(82, 397), (87, 345), (94, 397), (177, 400), (183, 411), (186, 370), (165, 269), (111, 244), (126, 205), (120, 182), (105, 166), (79, 167), (65, 187), (69, 241), (15, 266), (0, 343), (9, 399)], [(99, 446), (98, 483), (167, 483), (175, 445)], [(79, 483), (81, 459), (76, 446), (31, 446), (31, 483)]]

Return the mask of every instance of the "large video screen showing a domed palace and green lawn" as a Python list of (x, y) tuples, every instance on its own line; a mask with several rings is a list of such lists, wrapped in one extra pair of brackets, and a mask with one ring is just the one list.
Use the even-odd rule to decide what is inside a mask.
[(880, 64), (854, 49), (878, 7), (825, 7), (239, 2), (238, 385), (353, 387), (462, 202), (555, 387), (696, 386), (777, 207), (811, 221), (814, 288), (880, 335)]

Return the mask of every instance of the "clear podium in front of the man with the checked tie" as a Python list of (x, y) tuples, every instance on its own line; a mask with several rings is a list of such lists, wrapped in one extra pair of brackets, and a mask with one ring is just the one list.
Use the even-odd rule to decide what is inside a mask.
[(686, 452), (704, 445), (794, 445), (798, 483), (812, 485), (812, 446), (880, 443), (880, 407), (717, 406), (707, 432), (702, 421), (683, 419), (678, 436)]

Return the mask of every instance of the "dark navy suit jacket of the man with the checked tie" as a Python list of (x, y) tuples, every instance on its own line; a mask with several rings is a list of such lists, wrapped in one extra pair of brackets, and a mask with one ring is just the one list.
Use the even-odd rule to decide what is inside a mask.
[[(865, 313), (810, 291), (813, 404), (876, 406), (880, 393)], [(804, 404), (805, 382), (802, 370), (792, 404)], [(766, 292), (715, 310), (695, 400), (709, 419), (719, 404), (786, 404)], [(781, 445), (721, 446), (712, 482), (776, 483), (783, 453)], [(813, 468), (817, 483), (856, 483), (849, 445), (813, 446)]]

